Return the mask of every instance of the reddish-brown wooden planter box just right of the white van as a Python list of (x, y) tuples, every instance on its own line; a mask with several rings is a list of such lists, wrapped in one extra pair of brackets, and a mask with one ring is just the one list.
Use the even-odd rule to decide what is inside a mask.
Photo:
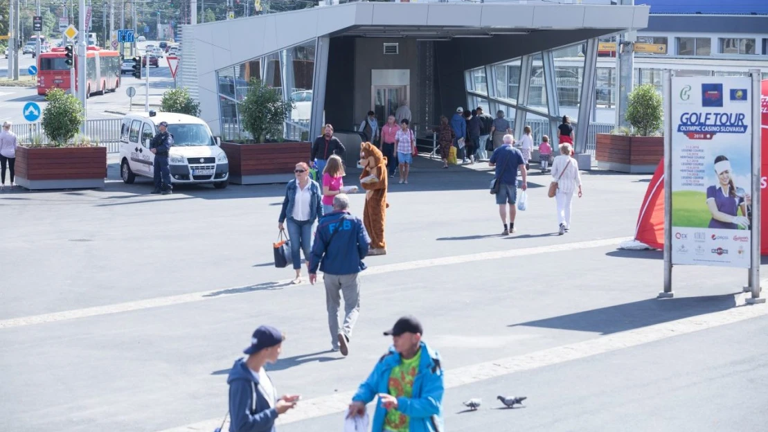
[(312, 143), (221, 143), (230, 160), (230, 183), (288, 183), (296, 163), (309, 162)]

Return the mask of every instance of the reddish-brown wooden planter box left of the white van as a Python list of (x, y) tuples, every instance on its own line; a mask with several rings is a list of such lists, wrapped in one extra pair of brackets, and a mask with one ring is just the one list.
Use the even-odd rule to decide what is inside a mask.
[(29, 190), (103, 188), (107, 147), (16, 149), (16, 184)]

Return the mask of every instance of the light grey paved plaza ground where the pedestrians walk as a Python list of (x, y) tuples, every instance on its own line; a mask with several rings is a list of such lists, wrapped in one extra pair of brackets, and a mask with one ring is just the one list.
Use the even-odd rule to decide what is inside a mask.
[[(746, 271), (677, 267), (675, 298), (657, 300), (661, 252), (617, 249), (650, 176), (582, 173), (558, 236), (534, 169), (502, 237), (479, 165), (421, 161), (390, 184), (389, 253), (366, 259), (347, 358), (330, 351), (322, 284), (273, 266), (285, 185), (154, 196), (113, 164), (104, 190), (0, 193), (0, 430), (210, 432), (261, 324), (287, 336), (267, 366), (277, 391), (302, 394), (277, 430), (342, 430), (405, 314), (442, 355), (449, 431), (764, 430), (768, 308), (742, 306)], [(500, 394), (528, 399), (498, 409)]]

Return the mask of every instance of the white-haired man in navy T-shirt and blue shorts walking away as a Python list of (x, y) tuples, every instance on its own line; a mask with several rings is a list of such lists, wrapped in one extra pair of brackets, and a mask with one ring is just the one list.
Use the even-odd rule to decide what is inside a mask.
[[(515, 137), (506, 134), (503, 138), (504, 143), (498, 149), (493, 150), (491, 159), (488, 160), (489, 167), (495, 167), (496, 173), (496, 203), (498, 204), (498, 215), (502, 217), (504, 223), (504, 232), (502, 236), (508, 236), (515, 232), (515, 215), (517, 209), (515, 203), (518, 199), (518, 170), (522, 174), (522, 183), (520, 189), (528, 189), (528, 171), (525, 170), (525, 160), (520, 150), (512, 147), (515, 143)], [(507, 212), (505, 205), (509, 207), (509, 225), (507, 225)]]

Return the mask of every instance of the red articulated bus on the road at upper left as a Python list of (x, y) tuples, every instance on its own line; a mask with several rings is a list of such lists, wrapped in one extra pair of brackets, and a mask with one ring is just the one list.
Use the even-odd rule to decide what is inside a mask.
[[(69, 90), (69, 66), (65, 48), (53, 48), (51, 52), (41, 53), (38, 58), (38, 94), (45, 95), (51, 88)], [(77, 88), (78, 58), (74, 57), (75, 88)], [(120, 67), (122, 61), (118, 51), (88, 47), (86, 53), (85, 85), (88, 96), (115, 91), (120, 87)]]

